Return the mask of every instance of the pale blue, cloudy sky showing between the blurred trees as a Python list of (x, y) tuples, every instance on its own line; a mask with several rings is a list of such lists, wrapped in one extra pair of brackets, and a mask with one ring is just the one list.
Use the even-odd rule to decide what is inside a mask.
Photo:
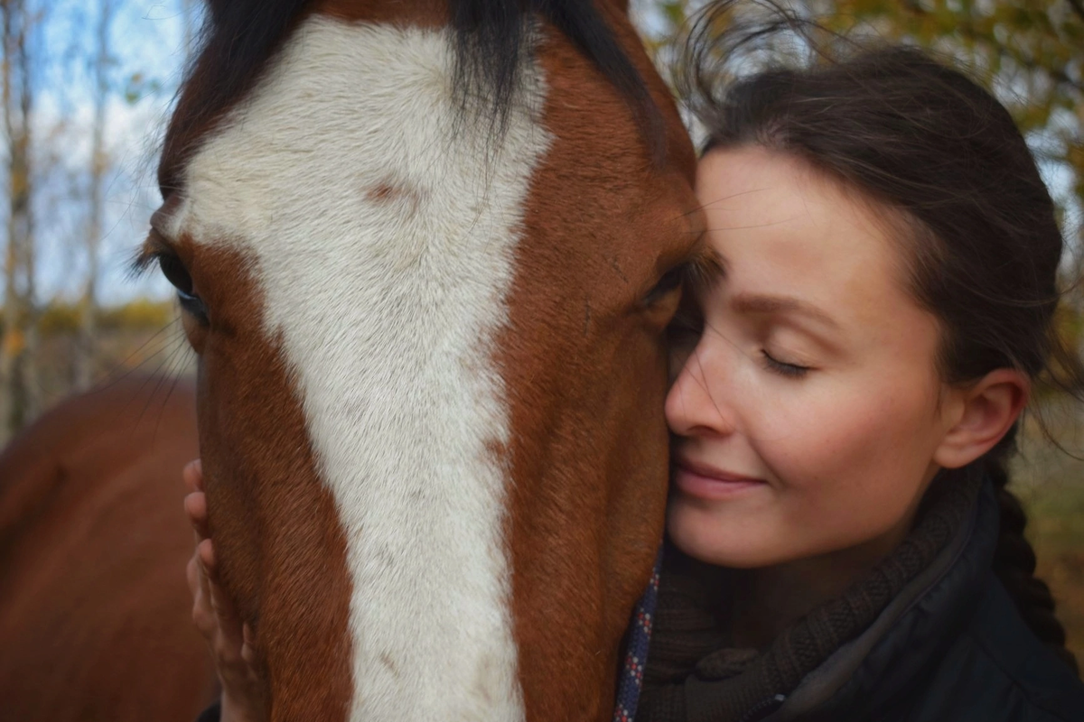
[[(157, 275), (127, 275), (132, 250), (142, 240), (159, 202), (154, 182), (158, 141), (186, 57), (185, 41), (198, 23), (197, 0), (27, 0), (35, 9), (35, 79), (39, 89), (35, 157), (39, 169), (36, 213), (38, 300), (74, 299), (86, 270), (82, 239), (88, 213), (87, 180), (93, 114), (91, 60), (103, 2), (115, 9), (111, 26), (113, 63), (106, 131), (113, 160), (105, 194), (100, 301), (115, 304), (171, 290)], [(653, 0), (634, 0), (634, 18), (648, 34), (666, 21)], [(4, 153), (7, 150), (4, 149)], [(1064, 201), (1071, 175), (1043, 168), (1055, 195)], [(0, 175), (2, 179), (2, 175)], [(4, 179), (5, 181), (5, 179)], [(1075, 236), (1081, 211), (1069, 204)], [(0, 207), (0, 219), (7, 211)], [(0, 228), (3, 226), (0, 225)]]

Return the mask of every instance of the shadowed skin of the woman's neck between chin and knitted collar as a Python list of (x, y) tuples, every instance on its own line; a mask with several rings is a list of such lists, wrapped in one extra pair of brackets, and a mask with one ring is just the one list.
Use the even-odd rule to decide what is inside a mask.
[(735, 647), (766, 647), (815, 607), (841, 596), (907, 536), (914, 516), (855, 547), (752, 569), (733, 569), (730, 631)]

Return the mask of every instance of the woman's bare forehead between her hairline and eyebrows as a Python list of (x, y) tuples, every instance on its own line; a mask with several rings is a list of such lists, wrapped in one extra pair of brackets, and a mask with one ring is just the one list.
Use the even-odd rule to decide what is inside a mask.
[(917, 306), (902, 246), (878, 206), (803, 160), (764, 148), (717, 149), (700, 162), (697, 195), (728, 293), (792, 297), (830, 315)]

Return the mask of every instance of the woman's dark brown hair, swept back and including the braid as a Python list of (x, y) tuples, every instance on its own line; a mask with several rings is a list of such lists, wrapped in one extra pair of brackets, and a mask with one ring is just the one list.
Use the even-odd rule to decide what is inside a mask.
[[(776, 149), (894, 209), (898, 218), (887, 220), (901, 231), (912, 292), (940, 321), (938, 364), (949, 383), (1016, 368), (1080, 398), (1084, 368), (1055, 326), (1062, 255), (1055, 204), (1005, 107), (913, 48), (862, 47), (769, 0), (753, 5), (767, 8), (766, 18), (734, 4), (715, 2), (700, 16), (675, 74), (707, 133), (704, 153)], [(797, 67), (769, 57), (767, 69), (738, 77), (788, 42), (804, 52)], [(1017, 429), (942, 477), (980, 471), (992, 480), (1001, 504), (994, 572), (1031, 630), (1075, 670), (1050, 590), (1034, 576), (1023, 510), (1007, 488)]]

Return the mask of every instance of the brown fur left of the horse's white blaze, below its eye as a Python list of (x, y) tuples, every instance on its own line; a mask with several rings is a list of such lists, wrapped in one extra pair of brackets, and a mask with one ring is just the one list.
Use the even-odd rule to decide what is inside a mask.
[[(244, 266), (227, 252), (178, 248), (195, 278)], [(275, 340), (247, 323), (259, 317), (259, 290), (240, 273), (205, 289), (220, 310), (218, 329), (227, 329), (190, 330), (201, 354), (199, 449), (216, 555), (260, 652), (275, 662), (266, 677), (274, 718), (341, 720), (351, 690), (350, 583), (334, 500)]]

